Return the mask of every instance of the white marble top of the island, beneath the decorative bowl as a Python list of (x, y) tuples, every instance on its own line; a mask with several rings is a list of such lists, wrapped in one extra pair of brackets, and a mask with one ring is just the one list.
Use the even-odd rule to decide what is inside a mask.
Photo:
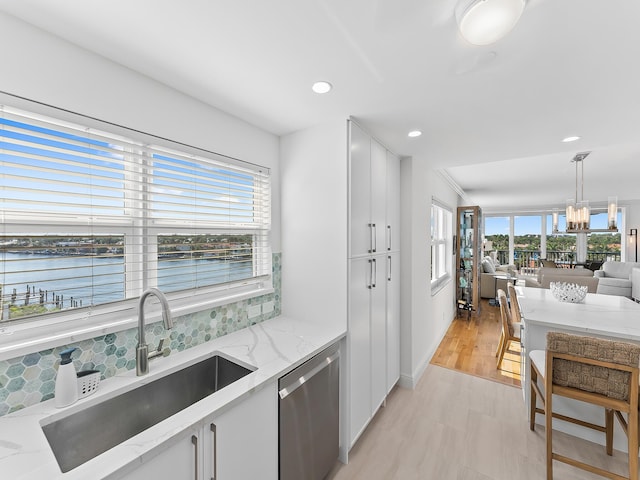
[(640, 304), (626, 297), (588, 293), (581, 303), (560, 302), (550, 290), (518, 287), (527, 323), (640, 342)]

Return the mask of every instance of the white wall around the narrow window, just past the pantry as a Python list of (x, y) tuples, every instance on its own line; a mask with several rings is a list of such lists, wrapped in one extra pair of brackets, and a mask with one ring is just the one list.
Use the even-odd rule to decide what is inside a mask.
[[(401, 162), (402, 293), (401, 385), (413, 387), (429, 364), (453, 316), (455, 280), (431, 295), (431, 199), (436, 197), (456, 215), (459, 197), (428, 162)], [(454, 222), (455, 224), (455, 222)]]

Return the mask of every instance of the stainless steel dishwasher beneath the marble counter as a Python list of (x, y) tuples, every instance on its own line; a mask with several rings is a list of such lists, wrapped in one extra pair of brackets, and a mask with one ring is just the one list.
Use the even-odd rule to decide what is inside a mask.
[(338, 459), (339, 344), (280, 378), (280, 480), (322, 480)]

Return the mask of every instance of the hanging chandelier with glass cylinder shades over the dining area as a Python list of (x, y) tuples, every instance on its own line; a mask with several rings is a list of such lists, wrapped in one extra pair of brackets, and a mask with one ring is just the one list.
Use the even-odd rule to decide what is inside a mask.
[[(566, 233), (591, 233), (591, 232), (617, 232), (618, 198), (609, 197), (607, 200), (607, 228), (592, 229), (591, 208), (589, 201), (584, 199), (584, 164), (583, 161), (591, 152), (581, 152), (576, 154), (571, 160), (576, 165), (576, 195), (567, 200), (565, 210), (567, 219)], [(579, 170), (579, 174), (578, 174)], [(578, 190), (578, 185), (580, 189)], [(579, 195), (578, 195), (579, 193)], [(558, 210), (553, 211), (553, 233), (558, 232)]]

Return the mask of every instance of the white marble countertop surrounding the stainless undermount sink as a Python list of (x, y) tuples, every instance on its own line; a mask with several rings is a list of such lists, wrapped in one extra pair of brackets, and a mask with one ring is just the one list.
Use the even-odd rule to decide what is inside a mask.
[[(0, 472), (16, 479), (117, 479), (178, 442), (201, 419), (232, 408), (318, 351), (344, 337), (331, 325), (314, 325), (278, 317), (197, 347), (150, 361), (149, 374), (135, 371), (100, 383), (98, 391), (58, 409), (53, 400), (0, 417)], [(61, 473), (41, 425), (114, 397), (207, 357), (222, 354), (256, 368), (251, 374), (209, 395), (135, 437), (67, 473)]]

